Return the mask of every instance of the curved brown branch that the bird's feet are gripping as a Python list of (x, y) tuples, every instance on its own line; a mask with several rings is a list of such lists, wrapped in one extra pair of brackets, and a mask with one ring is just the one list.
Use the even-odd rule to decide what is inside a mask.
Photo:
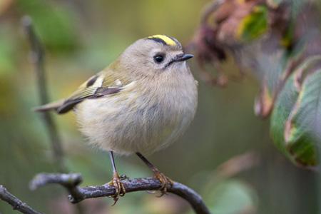
[[(141, 190), (158, 190), (161, 188), (161, 182), (157, 178), (121, 178), (123, 186), (125, 187), (126, 193), (141, 191)], [(30, 188), (34, 190), (41, 185), (47, 183), (58, 183), (63, 185), (68, 192), (69, 200), (71, 203), (78, 203), (86, 198), (99, 198), (99, 197), (111, 197), (115, 194), (115, 188), (113, 185), (104, 184), (97, 186), (85, 186), (79, 187), (82, 178), (80, 173), (40, 173), (36, 175), (36, 178), (31, 180)], [(204, 201), (195, 193), (194, 190), (187, 186), (173, 182), (173, 186), (170, 188), (168, 183), (168, 193), (174, 193), (175, 195), (184, 198), (190, 203), (195, 213), (208, 214), (210, 211), (206, 207)]]

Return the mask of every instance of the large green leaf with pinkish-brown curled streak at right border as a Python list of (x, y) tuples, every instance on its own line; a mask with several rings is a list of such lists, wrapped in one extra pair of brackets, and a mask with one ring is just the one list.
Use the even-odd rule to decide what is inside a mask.
[(321, 127), (321, 70), (304, 74), (320, 60), (321, 56), (312, 56), (297, 67), (277, 97), (271, 116), (270, 131), (275, 146), (297, 165), (317, 162), (315, 143), (320, 141), (317, 127)]

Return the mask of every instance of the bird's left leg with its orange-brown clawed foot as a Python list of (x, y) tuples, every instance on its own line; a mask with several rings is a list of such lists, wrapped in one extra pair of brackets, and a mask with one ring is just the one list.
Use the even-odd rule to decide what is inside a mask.
[(113, 160), (113, 151), (109, 151), (109, 156), (111, 157), (111, 165), (113, 166), (113, 179), (108, 184), (113, 184), (115, 187), (115, 195), (111, 195), (110, 197), (113, 198), (114, 203), (111, 205), (115, 205), (119, 196), (123, 196), (126, 193), (125, 188), (123, 187), (123, 183), (121, 182), (121, 178), (116, 170), (115, 161)]

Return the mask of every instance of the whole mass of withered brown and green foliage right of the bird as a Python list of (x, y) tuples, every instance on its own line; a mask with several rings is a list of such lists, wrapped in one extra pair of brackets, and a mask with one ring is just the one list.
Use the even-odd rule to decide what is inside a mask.
[[(296, 165), (315, 168), (321, 143), (321, 33), (317, 1), (225, 0), (203, 9), (187, 49), (195, 49), (199, 76), (225, 86), (228, 56), (240, 76), (260, 81), (255, 114), (270, 116), (275, 146)], [(210, 63), (217, 75), (205, 68)]]

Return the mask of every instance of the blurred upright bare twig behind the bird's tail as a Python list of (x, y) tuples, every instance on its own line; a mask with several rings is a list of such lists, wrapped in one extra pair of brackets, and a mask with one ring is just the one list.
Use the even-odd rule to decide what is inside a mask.
[[(35, 63), (35, 73), (37, 77), (37, 85), (40, 97), (40, 104), (44, 105), (49, 103), (47, 88), (46, 88), (46, 78), (44, 73), (44, 46), (39, 41), (39, 38), (34, 33), (34, 28), (32, 26), (32, 21), (30, 16), (24, 16), (21, 19), (21, 24), (24, 27), (26, 36), (29, 38), (31, 44), (30, 58)], [(56, 124), (49, 112), (43, 113), (43, 119), (45, 126), (49, 132), (51, 148), (54, 153), (54, 162), (57, 165), (58, 171), (63, 173), (66, 172), (66, 166), (63, 163), (63, 149), (61, 147), (61, 141), (58, 137), (56, 130)]]

